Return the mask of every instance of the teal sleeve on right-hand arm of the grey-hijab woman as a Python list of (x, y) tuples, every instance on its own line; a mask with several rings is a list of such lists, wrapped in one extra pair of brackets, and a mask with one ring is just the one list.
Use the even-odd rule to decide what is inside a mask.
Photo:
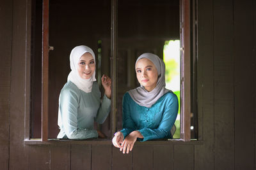
[(172, 96), (170, 101), (164, 106), (163, 118), (161, 119), (159, 126), (156, 129), (144, 127), (139, 130), (144, 137), (143, 141), (168, 138), (168, 136), (170, 136), (170, 130), (173, 127), (179, 110), (177, 96), (175, 96), (175, 94), (172, 94)]

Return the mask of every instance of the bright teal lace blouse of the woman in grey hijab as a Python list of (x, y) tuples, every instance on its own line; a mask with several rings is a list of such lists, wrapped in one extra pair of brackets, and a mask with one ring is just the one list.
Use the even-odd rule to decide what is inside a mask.
[(143, 139), (172, 138), (170, 130), (177, 118), (179, 102), (177, 96), (167, 92), (151, 108), (135, 103), (128, 92), (123, 97), (124, 138), (132, 131), (140, 131)]

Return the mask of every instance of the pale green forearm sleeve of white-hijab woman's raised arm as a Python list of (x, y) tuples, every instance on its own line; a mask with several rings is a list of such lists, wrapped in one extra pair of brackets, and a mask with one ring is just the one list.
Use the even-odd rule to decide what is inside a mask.
[(109, 111), (110, 111), (110, 104), (111, 100), (106, 97), (106, 95), (103, 96), (102, 103), (100, 104), (99, 111), (97, 113), (97, 117), (95, 118), (95, 121), (99, 124), (103, 124), (103, 122), (108, 117)]

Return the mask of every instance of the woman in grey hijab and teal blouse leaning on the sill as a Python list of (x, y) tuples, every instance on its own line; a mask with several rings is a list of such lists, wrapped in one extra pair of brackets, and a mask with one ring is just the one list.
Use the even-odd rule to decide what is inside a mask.
[(179, 110), (177, 96), (165, 89), (163, 60), (143, 53), (136, 60), (135, 71), (141, 86), (124, 94), (123, 129), (112, 139), (123, 153), (129, 153), (137, 139), (172, 138), (170, 130)]

